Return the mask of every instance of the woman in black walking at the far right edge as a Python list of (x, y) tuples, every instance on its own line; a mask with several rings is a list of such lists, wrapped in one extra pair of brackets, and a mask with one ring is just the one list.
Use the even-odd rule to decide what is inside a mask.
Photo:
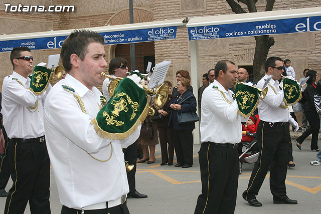
[(304, 90), (303, 93), (303, 100), (304, 100), (304, 114), (307, 118), (307, 121), (310, 124), (310, 127), (298, 138), (296, 138), (296, 146), (301, 150), (301, 144), (303, 140), (312, 134), (311, 139), (311, 150), (319, 151), (319, 147), (317, 146), (317, 136), (320, 129), (320, 119), (319, 115), (316, 112), (313, 97), (316, 89), (316, 85), (314, 85), (314, 82), (316, 80), (316, 71), (309, 71), (306, 74), (307, 77), (310, 77), (307, 80), (307, 87)]

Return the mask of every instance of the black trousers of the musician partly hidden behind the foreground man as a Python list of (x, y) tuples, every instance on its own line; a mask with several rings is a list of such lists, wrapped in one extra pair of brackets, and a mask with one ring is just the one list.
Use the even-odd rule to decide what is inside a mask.
[(135, 174), (137, 165), (137, 143), (138, 140), (136, 140), (133, 144), (122, 150), (124, 152), (125, 161), (128, 161), (129, 165), (134, 165), (134, 168), (127, 172), (127, 180), (130, 193), (136, 191)]

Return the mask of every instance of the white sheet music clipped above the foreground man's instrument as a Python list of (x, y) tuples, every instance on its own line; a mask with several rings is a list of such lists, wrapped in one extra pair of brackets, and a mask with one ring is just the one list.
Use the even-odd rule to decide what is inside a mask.
[(163, 61), (155, 65), (154, 72), (151, 75), (147, 88), (151, 89), (154, 86), (159, 86), (164, 83), (167, 71), (171, 65), (171, 61)]

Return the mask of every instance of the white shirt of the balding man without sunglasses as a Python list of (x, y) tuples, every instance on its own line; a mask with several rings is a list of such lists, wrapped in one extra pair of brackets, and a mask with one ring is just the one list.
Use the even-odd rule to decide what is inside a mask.
[[(223, 91), (229, 103), (213, 86)], [(241, 115), (237, 113), (238, 105), (236, 100), (233, 100), (233, 94), (231, 90), (225, 90), (217, 80), (204, 90), (200, 124), (201, 142), (239, 143), (241, 141)]]

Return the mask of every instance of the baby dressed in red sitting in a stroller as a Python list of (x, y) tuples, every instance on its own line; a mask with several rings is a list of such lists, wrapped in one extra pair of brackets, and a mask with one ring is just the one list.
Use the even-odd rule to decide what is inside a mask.
[[(242, 125), (243, 137), (238, 147), (240, 158), (239, 174), (242, 172), (242, 163), (254, 163), (259, 156), (256, 140), (256, 129), (259, 121), (259, 115), (251, 115), (246, 125)], [(246, 148), (245, 151), (242, 151), (243, 146)]]

